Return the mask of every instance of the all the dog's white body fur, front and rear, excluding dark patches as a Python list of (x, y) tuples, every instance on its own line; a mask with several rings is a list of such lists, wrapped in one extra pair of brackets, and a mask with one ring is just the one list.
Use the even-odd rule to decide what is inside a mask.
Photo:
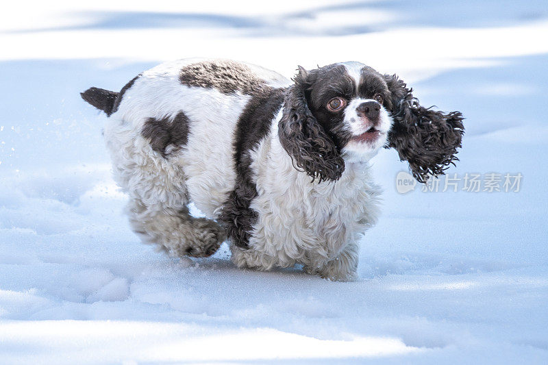
[[(234, 189), (234, 129), (250, 99), (240, 92), (227, 95), (213, 88), (182, 86), (179, 71), (192, 62), (197, 60), (169, 62), (142, 73), (104, 131), (114, 178), (130, 198), (127, 212), (134, 231), (177, 256), (206, 256), (225, 240), (214, 220)], [(291, 84), (273, 71), (247, 66), (266, 84)], [(180, 111), (190, 121), (188, 143), (169, 147), (164, 157), (141, 136), (142, 127), (148, 118), (173, 118)], [(258, 221), (249, 249), (231, 245), (232, 261), (261, 270), (299, 263), (322, 277), (353, 279), (357, 242), (379, 214), (380, 190), (369, 165), (378, 147), (368, 150), (366, 159), (347, 151), (345, 172), (338, 181), (311, 183), (293, 167), (279, 142), (281, 114), (251, 153), (258, 191), (251, 208), (258, 212)], [(391, 122), (388, 114), (383, 118)], [(190, 216), (190, 201), (207, 218)]]

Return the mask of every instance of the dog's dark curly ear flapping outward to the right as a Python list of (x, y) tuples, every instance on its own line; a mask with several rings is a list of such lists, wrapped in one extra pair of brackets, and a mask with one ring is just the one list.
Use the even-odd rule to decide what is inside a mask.
[(409, 162), (417, 181), (443, 175), (449, 164), (455, 164), (461, 147), (464, 126), (460, 112), (444, 112), (423, 108), (413, 97), (412, 89), (397, 75), (384, 75), (391, 98), (394, 124), (388, 132), (387, 148), (394, 148), (401, 161)]

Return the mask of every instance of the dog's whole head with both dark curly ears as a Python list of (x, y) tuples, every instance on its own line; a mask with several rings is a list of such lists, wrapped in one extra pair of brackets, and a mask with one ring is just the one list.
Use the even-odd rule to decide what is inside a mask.
[(381, 147), (392, 147), (424, 182), (458, 160), (464, 127), (460, 112), (423, 108), (411, 91), (396, 75), (358, 62), (299, 67), (279, 140), (295, 167), (319, 181), (335, 181), (345, 162), (367, 161)]

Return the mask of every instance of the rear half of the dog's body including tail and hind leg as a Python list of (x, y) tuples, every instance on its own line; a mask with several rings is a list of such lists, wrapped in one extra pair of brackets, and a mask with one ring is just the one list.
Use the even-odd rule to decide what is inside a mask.
[[(145, 242), (175, 255), (210, 255), (219, 247), (224, 229), (193, 218), (186, 205), (192, 201), (208, 218), (219, 216), (236, 185), (238, 128), (245, 131), (240, 143), (253, 140), (246, 134), (265, 129), (246, 125), (257, 120), (254, 110), (289, 84), (252, 64), (189, 59), (151, 68), (120, 92), (82, 93), (110, 117), (104, 136), (114, 179), (131, 198), (129, 219)], [(275, 108), (282, 99), (277, 91)]]

